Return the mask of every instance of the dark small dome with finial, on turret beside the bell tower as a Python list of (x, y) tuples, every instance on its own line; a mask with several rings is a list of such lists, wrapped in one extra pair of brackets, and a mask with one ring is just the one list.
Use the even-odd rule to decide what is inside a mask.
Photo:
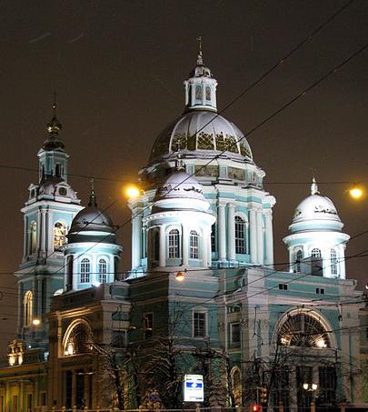
[(97, 207), (92, 190), (88, 206), (77, 213), (67, 237), (69, 243), (99, 241), (115, 244), (115, 230), (110, 216)]

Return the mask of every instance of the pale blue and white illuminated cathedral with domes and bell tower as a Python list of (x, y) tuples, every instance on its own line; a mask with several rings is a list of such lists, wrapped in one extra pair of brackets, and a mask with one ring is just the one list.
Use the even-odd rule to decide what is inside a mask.
[(82, 206), (69, 182), (54, 106), (22, 208), (17, 338), (1, 360), (0, 412), (193, 408), (188, 374), (204, 378), (199, 407), (296, 412), (368, 400), (363, 293), (345, 276), (349, 236), (336, 207), (313, 178), (283, 239), (289, 263), (276, 270), (275, 198), (243, 132), (218, 114), (216, 87), (200, 51), (184, 113), (153, 142), (129, 200), (124, 274), (103, 199), (92, 187)]

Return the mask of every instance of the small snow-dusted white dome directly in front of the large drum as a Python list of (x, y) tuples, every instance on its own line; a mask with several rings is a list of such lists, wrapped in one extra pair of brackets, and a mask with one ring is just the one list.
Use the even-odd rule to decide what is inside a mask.
[(184, 172), (183, 169), (174, 171), (162, 186), (159, 186), (154, 196), (154, 201), (164, 199), (195, 199), (204, 200), (202, 186)]

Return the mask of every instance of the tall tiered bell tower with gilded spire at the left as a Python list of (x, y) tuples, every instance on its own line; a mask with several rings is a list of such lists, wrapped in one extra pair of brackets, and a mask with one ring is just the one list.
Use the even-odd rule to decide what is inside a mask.
[(82, 206), (67, 183), (69, 155), (59, 136), (62, 129), (54, 116), (48, 136), (38, 151), (38, 183), (28, 187), (24, 214), (24, 250), (18, 278), (18, 335), (27, 346), (46, 342), (45, 313), (52, 296), (61, 293), (64, 277), (64, 245), (74, 216)]

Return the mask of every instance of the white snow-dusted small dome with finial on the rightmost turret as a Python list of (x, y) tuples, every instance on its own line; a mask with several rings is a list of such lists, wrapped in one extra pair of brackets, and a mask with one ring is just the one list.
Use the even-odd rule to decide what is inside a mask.
[(303, 226), (309, 230), (333, 227), (341, 230), (343, 223), (337, 214), (333, 201), (320, 195), (314, 179), (311, 189), (311, 196), (306, 197), (296, 207), (291, 228), (295, 229), (295, 226), (305, 224)]

